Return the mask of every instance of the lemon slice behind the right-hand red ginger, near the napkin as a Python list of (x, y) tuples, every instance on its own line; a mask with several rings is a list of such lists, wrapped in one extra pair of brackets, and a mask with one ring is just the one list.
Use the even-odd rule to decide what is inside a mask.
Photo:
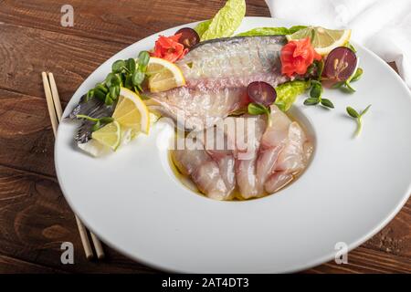
[(351, 29), (326, 29), (321, 26), (309, 26), (287, 36), (287, 39), (295, 40), (305, 37), (311, 38), (311, 44), (320, 55), (327, 55), (335, 47), (344, 46), (351, 36)]

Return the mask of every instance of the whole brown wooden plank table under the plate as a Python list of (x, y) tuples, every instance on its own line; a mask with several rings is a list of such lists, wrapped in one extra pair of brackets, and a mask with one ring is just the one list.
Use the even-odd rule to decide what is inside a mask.
[[(269, 16), (263, 0), (247, 2), (248, 16)], [(63, 27), (66, 3), (0, 0), (0, 272), (155, 273), (107, 246), (106, 260), (86, 260), (56, 178), (40, 72), (54, 73), (64, 107), (114, 53), (165, 28), (209, 18), (224, 1), (70, 0), (74, 26)], [(306, 272), (409, 273), (410, 222), (408, 200), (390, 224), (349, 254), (348, 265), (330, 262)], [(75, 265), (60, 263), (65, 241), (75, 246)]]

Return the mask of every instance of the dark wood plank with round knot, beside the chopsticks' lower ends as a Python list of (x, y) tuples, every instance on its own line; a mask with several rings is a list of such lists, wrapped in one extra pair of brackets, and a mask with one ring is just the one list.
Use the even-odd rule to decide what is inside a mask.
[[(60, 262), (63, 242), (74, 245), (74, 265)], [(0, 166), (0, 255), (66, 272), (153, 272), (108, 247), (105, 250), (103, 262), (85, 258), (74, 215), (56, 179)], [(18, 269), (18, 261), (13, 263)], [(0, 270), (4, 265), (0, 260)], [(25, 265), (20, 267), (26, 271)]]

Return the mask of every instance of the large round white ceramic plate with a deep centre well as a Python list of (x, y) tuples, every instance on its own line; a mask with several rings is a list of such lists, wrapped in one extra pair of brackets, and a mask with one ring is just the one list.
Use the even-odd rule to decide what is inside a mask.
[[(290, 26), (272, 18), (247, 17), (238, 31)], [(163, 31), (172, 35), (183, 26)], [(355, 32), (354, 36), (355, 36)], [(80, 96), (102, 80), (119, 58), (153, 47), (149, 36), (111, 57), (79, 87)], [(167, 158), (173, 130), (158, 123), (115, 154), (93, 159), (76, 150), (77, 125), (62, 122), (56, 141), (58, 182), (81, 220), (106, 244), (169, 271), (292, 272), (334, 258), (335, 245), (350, 249), (377, 233), (411, 193), (411, 94), (392, 68), (358, 48), (364, 77), (353, 95), (324, 93), (335, 110), (305, 107), (294, 114), (316, 143), (311, 165), (275, 195), (248, 202), (217, 202), (179, 183)], [(364, 110), (362, 135), (345, 107)]]

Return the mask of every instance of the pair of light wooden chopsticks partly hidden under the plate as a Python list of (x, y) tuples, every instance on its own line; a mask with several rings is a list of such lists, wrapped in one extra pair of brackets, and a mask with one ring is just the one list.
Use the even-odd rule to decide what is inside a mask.
[[(46, 93), (47, 109), (50, 115), (51, 127), (53, 128), (54, 136), (56, 137), (58, 123), (61, 121), (61, 117), (63, 115), (63, 111), (61, 110), (60, 99), (58, 97), (58, 89), (56, 86), (56, 80), (54, 79), (53, 73), (50, 73), (50, 72), (48, 74), (46, 72), (42, 72), (41, 77), (43, 78), (43, 86), (44, 86), (44, 92)], [(94, 257), (94, 254), (91, 249), (89, 235), (87, 234), (88, 230), (86, 229), (84, 224), (81, 223), (81, 221), (79, 220), (79, 217), (76, 214), (74, 215), (76, 217), (77, 226), (79, 227), (79, 235), (81, 238), (81, 243), (84, 248), (84, 252), (86, 254), (86, 257), (88, 259), (91, 259)], [(103, 258), (104, 251), (103, 251), (99, 238), (97, 238), (97, 236), (94, 235), (92, 232), (90, 232), (90, 237), (94, 245), (94, 249), (96, 251), (97, 257), (99, 259)]]

